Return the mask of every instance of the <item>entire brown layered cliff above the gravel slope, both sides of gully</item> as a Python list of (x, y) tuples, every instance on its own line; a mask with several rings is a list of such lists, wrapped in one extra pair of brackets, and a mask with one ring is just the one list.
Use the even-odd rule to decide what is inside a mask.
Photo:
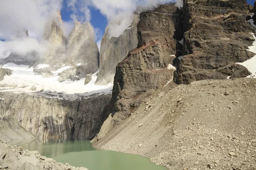
[(247, 16), (246, 0), (184, 0), (183, 8), (166, 4), (141, 13), (138, 46), (116, 67), (105, 110), (105, 118), (112, 113), (110, 130), (172, 80), (189, 84), (250, 75), (235, 64), (255, 55), (247, 51), (255, 40)]

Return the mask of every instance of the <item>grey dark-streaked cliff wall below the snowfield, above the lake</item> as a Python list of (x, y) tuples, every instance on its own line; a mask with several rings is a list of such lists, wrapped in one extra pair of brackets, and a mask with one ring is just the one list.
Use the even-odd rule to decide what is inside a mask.
[[(0, 93), (0, 119), (12, 119), (43, 138), (91, 139), (111, 95), (81, 100), (50, 99), (29, 94)], [(90, 105), (88, 105), (90, 103)]]

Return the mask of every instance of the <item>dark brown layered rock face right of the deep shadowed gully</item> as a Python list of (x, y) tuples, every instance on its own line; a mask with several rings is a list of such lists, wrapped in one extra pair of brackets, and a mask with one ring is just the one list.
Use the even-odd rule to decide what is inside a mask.
[[(243, 66), (255, 54), (247, 51), (254, 28), (246, 22), (246, 0), (184, 0), (183, 58), (178, 59), (175, 82), (250, 75)], [(233, 67), (233, 69), (225, 69)], [(225, 71), (223, 71), (225, 69)]]

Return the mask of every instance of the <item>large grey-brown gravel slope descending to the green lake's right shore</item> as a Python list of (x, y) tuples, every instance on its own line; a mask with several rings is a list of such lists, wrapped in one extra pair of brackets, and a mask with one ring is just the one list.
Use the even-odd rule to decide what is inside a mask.
[(256, 169), (256, 79), (166, 86), (94, 144), (170, 170)]

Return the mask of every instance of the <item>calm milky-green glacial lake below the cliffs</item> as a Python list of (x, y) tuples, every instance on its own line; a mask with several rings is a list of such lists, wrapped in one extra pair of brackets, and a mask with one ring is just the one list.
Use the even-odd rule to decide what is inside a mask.
[(75, 167), (86, 167), (88, 170), (166, 170), (149, 159), (139, 155), (96, 150), (89, 141), (47, 142), (33, 141), (12, 143), (26, 150), (38, 150), (41, 155)]

